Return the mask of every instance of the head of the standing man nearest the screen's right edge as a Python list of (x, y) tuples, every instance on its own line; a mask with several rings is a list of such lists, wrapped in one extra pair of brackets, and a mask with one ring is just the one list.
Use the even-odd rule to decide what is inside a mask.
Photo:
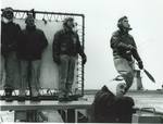
[(74, 24), (74, 18), (73, 17), (66, 17), (63, 22), (63, 26), (65, 28), (68, 28), (68, 29), (73, 29), (75, 24)]

